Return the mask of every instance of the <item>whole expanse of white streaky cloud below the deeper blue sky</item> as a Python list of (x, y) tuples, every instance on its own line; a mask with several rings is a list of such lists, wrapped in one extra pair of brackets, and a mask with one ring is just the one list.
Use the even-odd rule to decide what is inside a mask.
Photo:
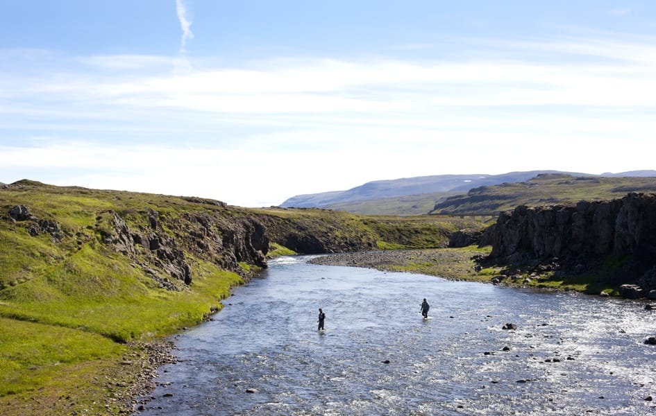
[[(191, 23), (178, 4), (184, 44)], [(654, 168), (653, 44), (559, 38), (498, 42), (494, 59), (280, 59), (184, 73), (179, 56), (95, 55), (40, 72), (26, 58), (0, 78), (0, 181), (272, 205), (396, 177)], [(583, 55), (603, 64), (569, 59)]]

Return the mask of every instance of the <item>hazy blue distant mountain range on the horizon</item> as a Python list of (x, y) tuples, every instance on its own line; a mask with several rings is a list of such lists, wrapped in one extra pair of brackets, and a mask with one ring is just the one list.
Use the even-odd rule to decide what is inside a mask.
[(404, 177), (396, 180), (367, 182), (346, 191), (330, 191), (293, 196), (281, 207), (327, 208), (357, 214), (410, 215), (426, 214), (435, 202), (466, 193), (470, 189), (503, 183), (525, 182), (541, 174), (563, 174), (573, 177), (656, 177), (656, 171), (622, 173), (590, 173), (563, 171), (520, 171), (501, 175), (485, 173), (469, 175), (432, 175)]

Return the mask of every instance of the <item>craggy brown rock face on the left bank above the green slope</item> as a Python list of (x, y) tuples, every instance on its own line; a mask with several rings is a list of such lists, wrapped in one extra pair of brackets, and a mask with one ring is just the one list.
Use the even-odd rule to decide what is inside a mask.
[(170, 284), (169, 278), (191, 284), (192, 265), (185, 252), (244, 277), (248, 277), (247, 272), (239, 263), (267, 267), (269, 239), (264, 225), (254, 218), (226, 220), (218, 215), (194, 212), (169, 219), (149, 210), (141, 221), (143, 225), (130, 228), (120, 214), (108, 211), (99, 216), (96, 227), (101, 227), (103, 216), (111, 225), (101, 233), (103, 243), (132, 257), (165, 288), (177, 287)]

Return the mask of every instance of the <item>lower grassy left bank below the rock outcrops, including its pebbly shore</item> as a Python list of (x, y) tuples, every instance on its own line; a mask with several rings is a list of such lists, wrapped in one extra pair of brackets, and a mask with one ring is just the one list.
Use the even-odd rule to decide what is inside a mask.
[[(189, 290), (162, 291), (114, 255), (83, 249), (2, 291), (0, 414), (127, 411), (143, 365), (126, 365), (126, 357), (149, 361), (137, 340), (198, 324), (241, 281), (204, 265)], [(80, 271), (91, 264), (94, 273)]]

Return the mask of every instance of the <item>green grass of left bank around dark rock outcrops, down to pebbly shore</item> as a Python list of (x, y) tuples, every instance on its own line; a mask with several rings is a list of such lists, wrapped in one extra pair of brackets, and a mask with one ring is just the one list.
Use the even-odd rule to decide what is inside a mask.
[[(56, 227), (10, 220), (16, 205)], [(187, 252), (192, 284), (162, 288), (145, 272), (162, 272), (147, 252), (128, 257), (104, 243), (108, 218), (119, 212), (141, 229), (150, 211), (192, 210), (183, 198), (28, 181), (0, 191), (0, 415), (131, 411), (153, 361), (146, 343), (202, 322), (242, 277)]]

